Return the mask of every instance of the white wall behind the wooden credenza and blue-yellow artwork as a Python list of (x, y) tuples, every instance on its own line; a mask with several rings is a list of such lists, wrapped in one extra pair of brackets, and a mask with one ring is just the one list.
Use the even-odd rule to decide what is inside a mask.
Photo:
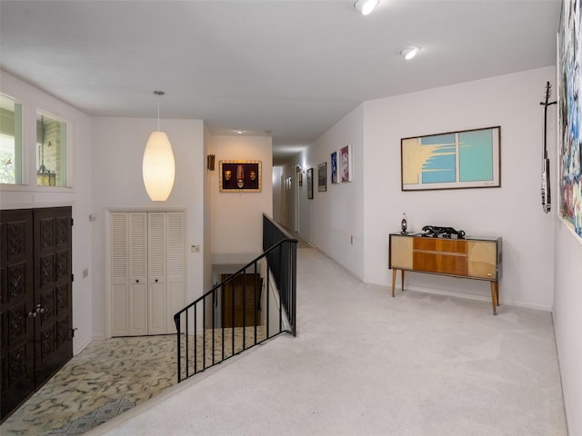
[[(543, 108), (540, 95), (555, 67), (456, 84), (364, 104), (365, 281), (386, 284), (388, 233), (402, 213), (410, 230), (446, 225), (467, 235), (503, 237), (502, 303), (551, 310), (553, 219), (541, 209)], [(555, 107), (555, 106), (553, 106)], [(549, 111), (548, 146), (555, 149), (555, 111)], [(501, 187), (402, 192), (400, 139), (501, 126)], [(420, 273), (406, 285), (488, 299), (489, 283)]]

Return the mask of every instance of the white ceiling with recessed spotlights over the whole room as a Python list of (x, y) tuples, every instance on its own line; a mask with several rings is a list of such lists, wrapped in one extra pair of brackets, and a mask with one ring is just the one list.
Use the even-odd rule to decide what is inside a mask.
[[(0, 67), (95, 116), (271, 132), (274, 163), (371, 99), (556, 63), (560, 0), (0, 0)], [(405, 61), (400, 50), (420, 45)], [(162, 125), (163, 128), (163, 125)]]

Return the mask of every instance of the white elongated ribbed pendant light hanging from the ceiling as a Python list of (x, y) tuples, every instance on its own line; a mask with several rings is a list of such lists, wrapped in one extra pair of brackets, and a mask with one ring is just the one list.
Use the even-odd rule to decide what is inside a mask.
[(152, 132), (146, 144), (142, 171), (149, 198), (154, 202), (165, 202), (174, 187), (176, 166), (172, 144), (167, 134), (160, 132), (160, 100), (164, 91), (154, 91), (157, 95), (157, 132)]

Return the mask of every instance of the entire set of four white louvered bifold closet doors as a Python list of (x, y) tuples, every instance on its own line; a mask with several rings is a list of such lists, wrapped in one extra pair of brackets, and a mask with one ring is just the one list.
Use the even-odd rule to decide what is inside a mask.
[(111, 213), (112, 335), (176, 332), (185, 305), (184, 213)]

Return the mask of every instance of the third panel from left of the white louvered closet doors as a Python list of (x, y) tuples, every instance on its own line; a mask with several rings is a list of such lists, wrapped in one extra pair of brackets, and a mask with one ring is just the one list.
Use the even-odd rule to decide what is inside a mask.
[(147, 214), (147, 333), (166, 333), (166, 213)]

